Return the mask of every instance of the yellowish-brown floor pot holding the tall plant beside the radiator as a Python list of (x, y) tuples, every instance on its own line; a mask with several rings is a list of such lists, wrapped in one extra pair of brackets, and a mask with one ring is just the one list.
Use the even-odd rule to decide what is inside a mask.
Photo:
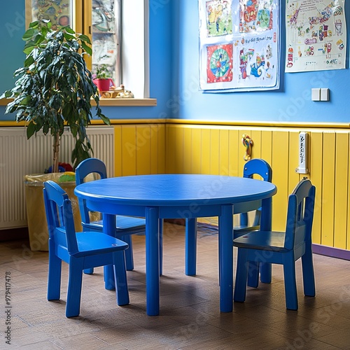
[(81, 218), (78, 199), (74, 195), (76, 181), (60, 181), (66, 173), (34, 174), (25, 176), (25, 197), (27, 207), (27, 223), (31, 251), (48, 251), (48, 223), (46, 222), (43, 202), (43, 183), (55, 181), (61, 186), (71, 200), (74, 225), (76, 231), (81, 231)]

